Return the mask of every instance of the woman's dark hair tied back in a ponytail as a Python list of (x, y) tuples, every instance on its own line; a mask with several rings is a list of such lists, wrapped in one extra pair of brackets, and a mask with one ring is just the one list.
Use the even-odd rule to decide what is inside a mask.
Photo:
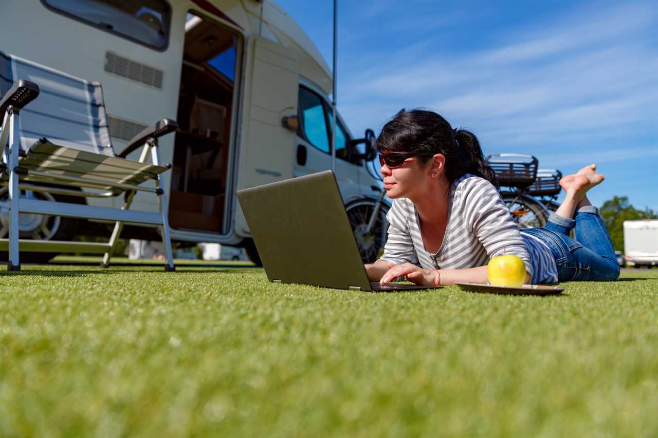
[[(445, 118), (434, 111), (399, 111), (382, 128), (377, 137), (377, 148), (443, 154), (448, 182), (452, 183), (464, 174), (473, 174), (498, 187), (493, 169), (484, 160), (478, 137), (467, 130), (453, 130)], [(421, 164), (430, 159), (429, 155), (418, 157)]]

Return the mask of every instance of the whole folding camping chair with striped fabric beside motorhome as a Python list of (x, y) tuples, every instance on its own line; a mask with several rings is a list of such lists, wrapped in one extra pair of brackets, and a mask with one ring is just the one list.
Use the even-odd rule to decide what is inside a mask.
[[(4, 117), (0, 185), (9, 187), (8, 201), (0, 201), (0, 210), (9, 212), (9, 239), (0, 238), (0, 251), (9, 251), (8, 270), (20, 270), (19, 248), (102, 253), (101, 266), (107, 267), (123, 224), (129, 222), (161, 227), (165, 270), (173, 271), (168, 208), (161, 188), (161, 174), (171, 165), (161, 165), (158, 138), (174, 132), (176, 122), (159, 120), (115, 155), (101, 84), (0, 52), (0, 94), (0, 114)], [(139, 161), (126, 159), (139, 147), (143, 147)], [(153, 164), (147, 162), (149, 153)], [(149, 180), (155, 181), (155, 187), (145, 184)], [(159, 212), (130, 210), (137, 191), (157, 197)], [(30, 192), (83, 198), (124, 195), (124, 203), (119, 209), (43, 201), (26, 196)], [(115, 223), (109, 243), (19, 239), (19, 213)]]

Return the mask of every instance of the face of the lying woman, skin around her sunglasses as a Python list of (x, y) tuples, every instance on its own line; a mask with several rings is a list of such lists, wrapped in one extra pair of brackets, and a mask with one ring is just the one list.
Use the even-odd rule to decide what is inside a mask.
[[(386, 154), (389, 151), (382, 151)], [(427, 158), (427, 157), (424, 157)], [(386, 163), (382, 166), (380, 173), (384, 178), (384, 189), (390, 199), (413, 198), (426, 191), (426, 186), (432, 180), (430, 176), (430, 165), (420, 164), (418, 157), (410, 157), (403, 162), (402, 166), (389, 168)]]

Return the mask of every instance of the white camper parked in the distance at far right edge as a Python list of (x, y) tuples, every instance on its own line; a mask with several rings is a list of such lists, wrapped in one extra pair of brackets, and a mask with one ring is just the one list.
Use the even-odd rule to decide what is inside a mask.
[(658, 264), (658, 220), (624, 220), (627, 266)]

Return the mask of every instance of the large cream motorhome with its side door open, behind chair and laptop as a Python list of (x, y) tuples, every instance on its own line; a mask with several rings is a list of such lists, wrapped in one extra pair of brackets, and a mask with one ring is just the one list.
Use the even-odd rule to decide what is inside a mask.
[[(121, 150), (157, 118), (177, 120), (160, 148), (172, 164), (164, 190), (180, 247), (237, 245), (257, 260), (236, 190), (332, 167), (332, 73), (273, 0), (11, 0), (0, 35), (0, 51), (103, 85), (107, 147)], [(336, 178), (363, 259), (372, 260), (386, 239), (388, 209), (372, 214), (381, 192), (369, 168), (374, 132), (354, 136), (336, 119)], [(120, 207), (122, 199), (86, 202)], [(138, 193), (133, 208), (157, 204)], [(107, 235), (110, 226), (74, 221), (25, 217), (21, 237), (49, 239), (55, 233), (41, 233), (45, 222), (58, 224), (60, 240), (99, 227)], [(122, 237), (160, 240), (159, 233), (133, 225)]]

